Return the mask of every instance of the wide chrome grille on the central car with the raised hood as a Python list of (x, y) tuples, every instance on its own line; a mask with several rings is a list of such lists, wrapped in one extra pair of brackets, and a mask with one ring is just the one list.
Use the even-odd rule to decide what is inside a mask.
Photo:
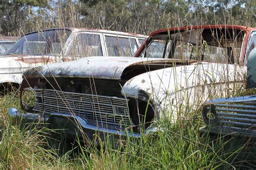
[[(32, 89), (37, 101), (33, 111), (51, 114), (69, 112), (77, 116), (86, 116), (97, 122), (112, 125), (130, 126), (129, 109), (125, 98), (107, 97), (90, 94), (69, 93), (51, 89)], [(122, 115), (116, 109), (122, 109)]]

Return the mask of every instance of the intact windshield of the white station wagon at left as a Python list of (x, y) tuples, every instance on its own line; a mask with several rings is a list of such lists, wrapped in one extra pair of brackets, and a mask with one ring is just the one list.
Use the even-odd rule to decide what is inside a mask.
[(5, 55), (60, 54), (70, 33), (70, 30), (59, 29), (27, 34), (19, 39)]

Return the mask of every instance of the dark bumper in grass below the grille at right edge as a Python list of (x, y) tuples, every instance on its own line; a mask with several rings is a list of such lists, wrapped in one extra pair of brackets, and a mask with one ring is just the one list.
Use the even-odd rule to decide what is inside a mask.
[(205, 126), (199, 129), (202, 133), (214, 133), (219, 134), (221, 136), (226, 135), (234, 135), (234, 136), (241, 136), (241, 137), (256, 137), (256, 131), (250, 129), (240, 129), (235, 127), (229, 126)]

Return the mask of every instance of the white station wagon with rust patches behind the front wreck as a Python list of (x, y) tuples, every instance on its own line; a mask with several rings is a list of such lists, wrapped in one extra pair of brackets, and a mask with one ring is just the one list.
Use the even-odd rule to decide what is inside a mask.
[(19, 87), (33, 66), (86, 56), (132, 56), (146, 37), (95, 29), (49, 29), (25, 34), (0, 58), (0, 91)]

